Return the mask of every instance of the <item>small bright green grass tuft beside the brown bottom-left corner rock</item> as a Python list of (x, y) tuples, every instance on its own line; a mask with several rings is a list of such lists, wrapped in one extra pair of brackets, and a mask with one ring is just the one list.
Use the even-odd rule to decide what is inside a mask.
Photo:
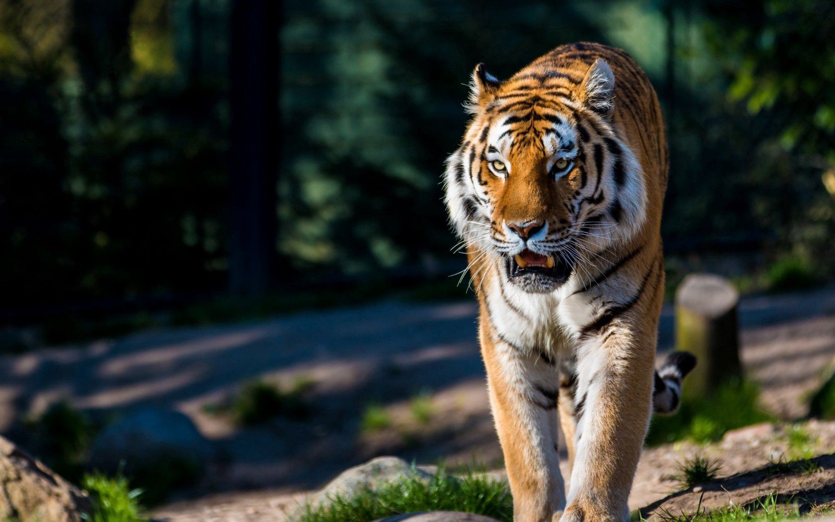
[(128, 480), (119, 475), (109, 478), (103, 474), (87, 474), (81, 487), (90, 494), (93, 512), (83, 515), (89, 522), (144, 522), (139, 516), (139, 489), (130, 489)]

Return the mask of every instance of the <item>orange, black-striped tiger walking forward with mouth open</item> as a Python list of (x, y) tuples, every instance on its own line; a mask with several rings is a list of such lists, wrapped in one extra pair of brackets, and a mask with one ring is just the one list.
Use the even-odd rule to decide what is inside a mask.
[(669, 170), (655, 90), (625, 51), (572, 43), (504, 81), (479, 63), (469, 91), (444, 200), (514, 520), (628, 520), (650, 414), (678, 408), (696, 364), (673, 352), (655, 371)]

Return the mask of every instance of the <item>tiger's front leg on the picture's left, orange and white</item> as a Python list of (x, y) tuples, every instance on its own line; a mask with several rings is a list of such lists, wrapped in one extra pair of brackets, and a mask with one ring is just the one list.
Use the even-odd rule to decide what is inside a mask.
[(502, 445), (516, 522), (550, 521), (565, 507), (559, 471), (559, 371), (540, 353), (519, 350), (481, 322), (490, 407)]

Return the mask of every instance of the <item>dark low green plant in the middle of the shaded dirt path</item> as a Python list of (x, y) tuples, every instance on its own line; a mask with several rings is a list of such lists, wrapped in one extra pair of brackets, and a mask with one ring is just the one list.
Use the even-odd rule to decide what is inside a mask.
[(230, 406), (235, 423), (251, 426), (279, 416), (305, 418), (310, 413), (302, 393), (304, 382), (287, 392), (264, 381), (245, 383)]

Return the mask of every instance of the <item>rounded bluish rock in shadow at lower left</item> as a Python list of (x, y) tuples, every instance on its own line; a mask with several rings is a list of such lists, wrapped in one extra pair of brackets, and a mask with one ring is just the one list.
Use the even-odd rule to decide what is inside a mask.
[(155, 469), (169, 474), (172, 467), (194, 475), (211, 453), (209, 441), (183, 413), (144, 408), (99, 434), (90, 451), (90, 466), (107, 474), (121, 469), (129, 476), (153, 474)]

